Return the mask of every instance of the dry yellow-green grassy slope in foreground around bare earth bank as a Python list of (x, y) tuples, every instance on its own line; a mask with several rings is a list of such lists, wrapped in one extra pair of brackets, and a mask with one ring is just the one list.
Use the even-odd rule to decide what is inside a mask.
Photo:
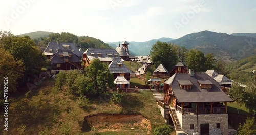
[[(84, 117), (92, 114), (140, 114), (150, 121), (152, 130), (164, 125), (164, 119), (150, 91), (126, 94), (123, 102), (113, 104), (110, 95), (88, 97), (86, 107), (79, 107), (79, 100), (67, 95), (66, 89), (52, 91), (53, 80), (45, 80), (40, 87), (18, 99), (10, 100), (8, 134), (147, 134), (147, 129), (125, 125), (120, 130), (103, 131), (92, 128), (81, 131)], [(0, 116), (3, 119), (3, 115)], [(24, 128), (24, 126), (26, 127)], [(111, 126), (108, 126), (111, 128)], [(3, 127), (0, 128), (1, 130)], [(17, 129), (20, 129), (19, 131)], [(150, 130), (150, 134), (152, 134)], [(3, 130), (2, 130), (3, 131)], [(2, 134), (2, 133), (1, 133)]]

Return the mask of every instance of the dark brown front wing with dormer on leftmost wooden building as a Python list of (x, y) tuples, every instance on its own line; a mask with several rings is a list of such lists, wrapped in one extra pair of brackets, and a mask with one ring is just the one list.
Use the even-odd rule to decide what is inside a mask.
[(59, 49), (50, 59), (51, 71), (81, 69), (81, 60), (71, 50)]

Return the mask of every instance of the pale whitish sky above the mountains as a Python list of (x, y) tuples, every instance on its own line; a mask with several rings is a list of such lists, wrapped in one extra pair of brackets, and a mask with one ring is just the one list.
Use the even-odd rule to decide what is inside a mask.
[(180, 38), (204, 30), (256, 33), (256, 1), (0, 1), (0, 30), (69, 32), (104, 42)]

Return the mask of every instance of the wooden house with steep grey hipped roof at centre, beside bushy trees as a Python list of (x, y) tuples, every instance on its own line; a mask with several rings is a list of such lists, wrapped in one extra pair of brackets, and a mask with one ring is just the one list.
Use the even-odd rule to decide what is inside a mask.
[[(114, 79), (118, 76), (124, 76), (124, 78), (130, 82), (130, 73), (132, 73), (125, 64), (123, 64), (121, 58), (114, 58), (114, 60), (109, 64), (109, 71), (114, 75)], [(123, 83), (121, 88), (129, 88), (130, 83)]]

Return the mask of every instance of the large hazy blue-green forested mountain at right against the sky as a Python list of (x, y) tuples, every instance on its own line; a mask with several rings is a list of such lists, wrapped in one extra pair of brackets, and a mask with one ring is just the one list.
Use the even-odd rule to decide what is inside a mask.
[(170, 43), (184, 46), (187, 49), (198, 49), (206, 54), (214, 53), (224, 61), (238, 60), (256, 54), (255, 38), (211, 31), (187, 34)]

